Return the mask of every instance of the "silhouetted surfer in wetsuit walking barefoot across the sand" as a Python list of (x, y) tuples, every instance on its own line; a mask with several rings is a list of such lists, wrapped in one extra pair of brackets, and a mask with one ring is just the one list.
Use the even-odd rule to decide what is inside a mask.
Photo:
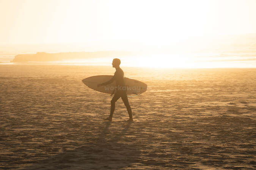
[(124, 82), (124, 72), (119, 66), (120, 63), (121, 63), (120, 59), (113, 59), (112, 66), (116, 68), (116, 72), (115, 72), (114, 76), (112, 77), (112, 79), (108, 80), (107, 82), (97, 85), (97, 87), (101, 87), (101, 86), (104, 86), (104, 85), (108, 85), (108, 84), (112, 83), (113, 81), (116, 81), (116, 87), (115, 87), (116, 93), (115, 93), (114, 97), (111, 100), (110, 115), (109, 115), (108, 118), (105, 119), (105, 120), (110, 121), (110, 122), (112, 121), (113, 113), (115, 111), (115, 103), (120, 97), (122, 98), (122, 100), (124, 102), (124, 105), (127, 108), (127, 111), (128, 111), (128, 114), (129, 114), (129, 120), (128, 121), (133, 121), (133, 119), (132, 119), (132, 109), (130, 107), (128, 97), (127, 97), (127, 94), (126, 94), (127, 89), (126, 89), (125, 82)]

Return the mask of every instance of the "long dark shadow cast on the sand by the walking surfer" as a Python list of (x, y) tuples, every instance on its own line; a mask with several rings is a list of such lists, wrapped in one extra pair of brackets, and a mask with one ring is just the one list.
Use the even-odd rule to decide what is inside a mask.
[[(140, 148), (136, 146), (136, 141), (126, 140), (127, 131), (131, 122), (119, 133), (110, 132), (111, 122), (104, 122), (98, 138), (85, 143), (85, 145), (59, 153), (50, 158), (40, 160), (25, 169), (54, 169), (54, 168), (74, 168), (74, 169), (115, 169), (132, 168), (132, 164), (139, 163), (141, 155)], [(122, 139), (123, 138), (123, 139)], [(135, 142), (134, 142), (135, 141)]]

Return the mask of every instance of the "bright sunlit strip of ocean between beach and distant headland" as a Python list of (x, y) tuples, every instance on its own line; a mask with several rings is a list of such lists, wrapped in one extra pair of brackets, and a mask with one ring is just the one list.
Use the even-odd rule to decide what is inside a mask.
[[(22, 53), (26, 54), (26, 53)], [(31, 53), (28, 53), (31, 54)], [(20, 64), (12, 63), (15, 55), (2, 52), (0, 64)], [(256, 51), (201, 51), (184, 52), (174, 54), (152, 54), (122, 57), (123, 66), (143, 66), (155, 68), (255, 68)], [(68, 60), (54, 62), (27, 62), (33, 64), (58, 64), (58, 65), (109, 65), (112, 58), (104, 57), (85, 60)]]

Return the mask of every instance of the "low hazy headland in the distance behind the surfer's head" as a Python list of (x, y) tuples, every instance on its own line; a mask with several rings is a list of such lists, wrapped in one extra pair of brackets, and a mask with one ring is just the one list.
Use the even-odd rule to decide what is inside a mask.
[(102, 57), (129, 56), (132, 52), (121, 51), (97, 51), (97, 52), (69, 52), (69, 53), (44, 53), (18, 54), (12, 62), (49, 62), (74, 59), (92, 59)]

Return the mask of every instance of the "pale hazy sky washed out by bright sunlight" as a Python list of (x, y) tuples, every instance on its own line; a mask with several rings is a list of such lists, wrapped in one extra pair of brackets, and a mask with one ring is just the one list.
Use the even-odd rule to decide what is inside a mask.
[(256, 0), (0, 0), (0, 43), (131, 41), (256, 33)]

